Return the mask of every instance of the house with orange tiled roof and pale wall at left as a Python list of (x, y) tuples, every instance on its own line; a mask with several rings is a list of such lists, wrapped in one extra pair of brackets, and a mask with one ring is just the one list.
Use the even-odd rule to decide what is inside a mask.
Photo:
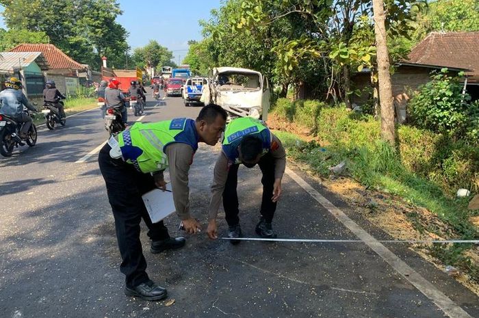
[(75, 96), (80, 85), (79, 73), (86, 72), (88, 66), (80, 64), (53, 44), (44, 43), (23, 43), (18, 44), (10, 52), (41, 52), (47, 59), (49, 69), (44, 72), (48, 80), (55, 81), (55, 84), (63, 94)]

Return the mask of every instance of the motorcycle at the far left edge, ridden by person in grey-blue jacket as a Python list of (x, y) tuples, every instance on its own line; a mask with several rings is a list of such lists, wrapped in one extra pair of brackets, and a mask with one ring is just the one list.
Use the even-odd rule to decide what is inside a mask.
[[(23, 112), (31, 116), (28, 110), (24, 110)], [(14, 147), (25, 146), (24, 141), (27, 142), (30, 147), (35, 146), (37, 140), (35, 124), (33, 122), (31, 123), (27, 137), (24, 139), (20, 137), (22, 126), (22, 122), (16, 122), (13, 118), (0, 114), (0, 153), (3, 157), (10, 157)]]

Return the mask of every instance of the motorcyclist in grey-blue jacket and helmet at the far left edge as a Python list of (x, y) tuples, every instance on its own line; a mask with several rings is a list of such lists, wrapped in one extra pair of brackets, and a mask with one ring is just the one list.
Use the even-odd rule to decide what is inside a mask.
[(23, 94), (22, 82), (19, 79), (10, 77), (5, 81), (5, 87), (6, 89), (0, 92), (0, 113), (13, 118), (16, 122), (23, 122), (20, 137), (25, 139), (33, 120), (23, 112), (23, 106), (34, 112), (38, 111)]

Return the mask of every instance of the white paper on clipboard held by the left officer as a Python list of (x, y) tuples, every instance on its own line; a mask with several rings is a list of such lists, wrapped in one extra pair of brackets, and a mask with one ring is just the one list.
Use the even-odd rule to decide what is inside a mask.
[[(171, 184), (166, 185), (166, 189), (171, 191)], [(157, 223), (165, 217), (176, 211), (174, 208), (173, 194), (170, 191), (153, 189), (142, 196), (144, 205), (151, 222)]]

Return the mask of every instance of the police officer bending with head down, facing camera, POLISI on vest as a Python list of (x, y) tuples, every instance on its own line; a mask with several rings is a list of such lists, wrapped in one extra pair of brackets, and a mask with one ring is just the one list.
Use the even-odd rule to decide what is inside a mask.
[[(239, 164), (248, 168), (259, 165), (263, 177), (263, 197), (261, 214), (255, 230), (259, 237), (276, 238), (271, 222), (276, 211), (276, 202), (281, 196), (281, 179), (286, 168), (286, 153), (281, 141), (270, 132), (260, 120), (244, 117), (232, 120), (224, 131), (222, 152), (214, 168), (209, 203), (209, 238), (216, 239), (216, 215), (223, 198), (224, 213), (228, 223), (228, 237), (242, 237), (239, 226), (239, 209), (237, 196), (237, 173)], [(231, 243), (239, 243), (231, 240)]]

